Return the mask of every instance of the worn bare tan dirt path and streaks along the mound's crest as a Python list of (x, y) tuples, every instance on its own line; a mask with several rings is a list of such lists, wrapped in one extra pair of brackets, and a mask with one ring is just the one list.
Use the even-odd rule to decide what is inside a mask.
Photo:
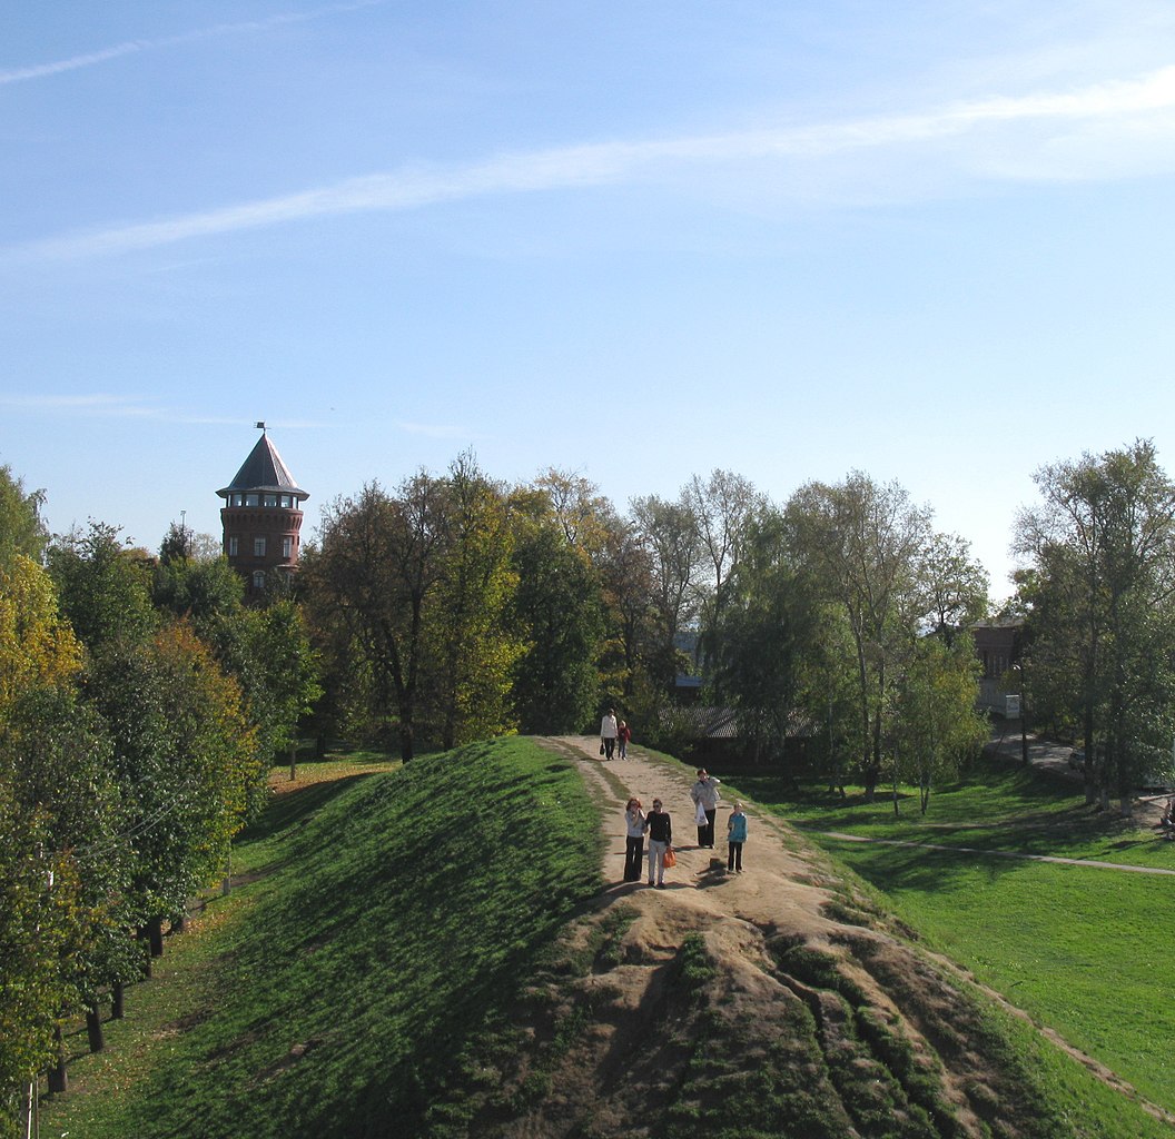
[[(669, 1101), (673, 1081), (682, 1078), (684, 1060), (665, 1044), (658, 1022), (666, 1016), (666, 1002), (672, 999), (666, 996), (671, 964), (679, 959), (690, 935), (701, 939), (707, 958), (714, 963), (710, 1000), (713, 1015), (730, 1017), (739, 1025), (754, 1025), (764, 1057), (777, 1046), (767, 1043), (768, 1037), (778, 1042), (794, 1033), (800, 1022), (788, 1010), (794, 1010), (797, 1002), (806, 1005), (821, 1025), (818, 1046), (827, 1050), (851, 1043), (834, 1039), (835, 1016), (830, 1017), (827, 1010), (837, 1007), (835, 999), (804, 976), (803, 969), (795, 972), (805, 955), (812, 959), (812, 952), (839, 961), (838, 969), (852, 978), (857, 990), (884, 1017), (895, 1025), (900, 1022), (900, 1031), (914, 1043), (915, 1051), (925, 1049), (929, 1053), (934, 1050), (931, 1042), (951, 1034), (961, 1032), (962, 1038), (967, 1037), (966, 1025), (952, 1019), (960, 1016), (958, 997), (941, 978), (955, 976), (978, 986), (975, 978), (925, 949), (915, 950), (887, 919), (874, 921), (860, 912), (854, 917), (855, 907), (867, 908), (871, 903), (854, 896), (824, 852), (803, 833), (747, 808), (744, 872), (728, 875), (725, 840), (731, 796), (724, 795), (718, 807), (716, 849), (700, 849), (689, 794), (692, 770), (631, 746), (627, 759), (604, 761), (595, 736), (546, 737), (539, 742), (572, 761), (604, 807), (605, 885), (597, 919), (617, 904), (627, 908), (633, 917), (616, 948), (615, 965), (579, 982), (573, 999), (596, 1010), (591, 1033), (569, 1052), (544, 1105), (509, 1133), (578, 1133), (563, 1121), (579, 1118), (583, 1126), (584, 1104), (591, 1105), (593, 1133), (644, 1133), (633, 1120), (654, 1108), (658, 1094)], [(663, 890), (650, 889), (646, 874), (638, 883), (623, 881), (623, 813), (630, 795), (638, 797), (646, 810), (654, 798), (660, 798), (672, 817), (678, 862), (665, 872)], [(590, 936), (590, 930), (583, 932), (585, 939)], [(797, 948), (799, 958), (790, 946)], [(1001, 995), (988, 995), (1013, 1015), (1025, 1016)], [(1107, 1085), (1159, 1118), (1175, 1121), (1161, 1108), (1142, 1101), (1114, 1072), (1055, 1033), (1041, 1031)], [(756, 1063), (754, 1047), (747, 1049), (746, 1062)], [(947, 1063), (942, 1096), (958, 1112), (965, 1133), (986, 1133), (985, 1096), (999, 1101), (1012, 1091), (1001, 1085), (999, 1065), (986, 1066), (985, 1058), (971, 1049), (949, 1060), (941, 1054), (941, 1059)], [(976, 1096), (976, 1089), (981, 1094)], [(844, 1101), (848, 1105), (848, 1100)], [(845, 1110), (851, 1111), (851, 1105)], [(845, 1133), (855, 1132), (850, 1125)]]

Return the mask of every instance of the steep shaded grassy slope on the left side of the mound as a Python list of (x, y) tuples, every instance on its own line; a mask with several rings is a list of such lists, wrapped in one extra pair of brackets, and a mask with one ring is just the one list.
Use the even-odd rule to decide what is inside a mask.
[(234, 851), (248, 884), (169, 941), (107, 1052), (70, 1039), (73, 1090), (42, 1134), (439, 1135), (446, 1113), (459, 1130), (445, 1089), (466, 1042), (598, 889), (596, 809), (528, 740), (300, 771)]

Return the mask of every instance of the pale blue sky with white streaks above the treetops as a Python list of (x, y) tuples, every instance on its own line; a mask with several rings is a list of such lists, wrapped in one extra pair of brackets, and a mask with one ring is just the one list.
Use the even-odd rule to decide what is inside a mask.
[(897, 480), (1008, 592), (1041, 465), (1175, 469), (1175, 8), (0, 9), (0, 464), (157, 547), (264, 419), (318, 510)]

